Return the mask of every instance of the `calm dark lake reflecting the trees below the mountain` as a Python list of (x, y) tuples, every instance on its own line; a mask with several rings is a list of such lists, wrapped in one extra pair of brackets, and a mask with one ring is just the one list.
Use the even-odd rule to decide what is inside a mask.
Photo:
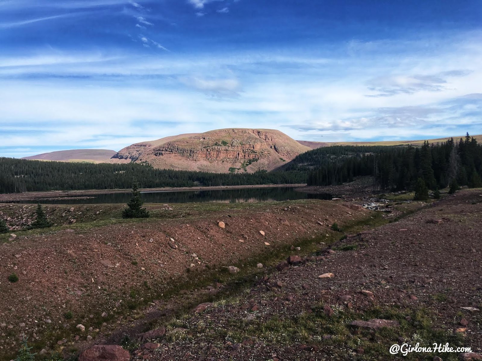
[[(99, 203), (127, 203), (131, 198), (131, 192), (97, 193), (87, 195), (86, 199), (39, 199), (22, 200), (15, 203), (41, 204), (99, 204)], [(256, 203), (285, 201), (288, 199), (332, 199), (328, 193), (309, 194), (296, 192), (293, 187), (273, 188), (244, 188), (244, 189), (220, 189), (201, 191), (156, 191), (142, 192), (142, 198), (146, 203), (197, 203), (197, 202), (222, 202), (222, 203)], [(92, 197), (92, 198), (90, 198)]]

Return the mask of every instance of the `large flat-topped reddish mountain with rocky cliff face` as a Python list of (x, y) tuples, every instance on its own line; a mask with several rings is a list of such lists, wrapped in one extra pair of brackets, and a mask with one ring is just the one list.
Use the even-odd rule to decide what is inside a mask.
[(218, 129), (135, 143), (110, 162), (146, 161), (161, 169), (251, 173), (278, 168), (308, 150), (279, 130)]

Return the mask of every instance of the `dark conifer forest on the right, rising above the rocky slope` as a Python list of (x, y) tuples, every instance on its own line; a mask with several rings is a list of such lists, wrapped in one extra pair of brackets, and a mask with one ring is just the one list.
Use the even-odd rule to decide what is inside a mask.
[(452, 138), (436, 144), (426, 141), (421, 147), (370, 148), (339, 150), (340, 156), (309, 173), (308, 185), (340, 184), (370, 175), (381, 190), (391, 191), (414, 190), (419, 179), (431, 190), (482, 186), (482, 145), (469, 133), (459, 142)]

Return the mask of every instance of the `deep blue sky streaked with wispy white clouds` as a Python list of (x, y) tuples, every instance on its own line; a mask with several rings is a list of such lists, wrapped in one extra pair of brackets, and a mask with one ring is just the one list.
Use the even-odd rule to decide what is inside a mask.
[(0, 155), (482, 133), (482, 2), (0, 0)]

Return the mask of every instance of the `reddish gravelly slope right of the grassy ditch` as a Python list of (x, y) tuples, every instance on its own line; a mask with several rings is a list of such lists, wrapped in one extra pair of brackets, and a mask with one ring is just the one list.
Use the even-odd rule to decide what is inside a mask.
[[(456, 352), (390, 355), (388, 349), (448, 343), (482, 352), (481, 220), (481, 190), (449, 196), (398, 222), (340, 240), (322, 258), (294, 259), (239, 297), (165, 322), (163, 335), (152, 337), (159, 343), (135, 348), (134, 356), (480, 360)], [(378, 323), (387, 327), (360, 322), (371, 319), (385, 320)]]

